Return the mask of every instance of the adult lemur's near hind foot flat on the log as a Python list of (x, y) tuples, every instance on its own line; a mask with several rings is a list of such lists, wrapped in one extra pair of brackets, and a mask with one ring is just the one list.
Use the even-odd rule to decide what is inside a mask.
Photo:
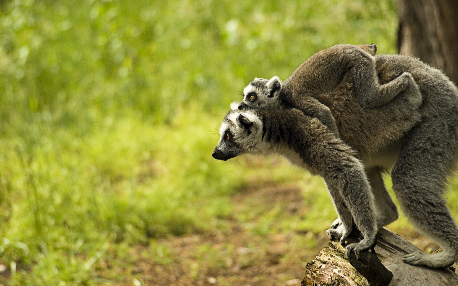
[(442, 251), (435, 254), (425, 254), (417, 251), (403, 257), (404, 263), (412, 265), (425, 265), (430, 268), (442, 268), (452, 265), (456, 260), (456, 254), (449, 251)]

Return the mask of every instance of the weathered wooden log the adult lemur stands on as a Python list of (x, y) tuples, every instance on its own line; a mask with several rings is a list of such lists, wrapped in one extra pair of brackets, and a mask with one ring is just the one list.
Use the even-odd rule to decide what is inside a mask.
[[(448, 268), (430, 269), (402, 262), (406, 254), (419, 251), (403, 237), (383, 228), (375, 252), (393, 273), (389, 286), (458, 286), (458, 275)], [(345, 257), (345, 248), (331, 241), (307, 264), (302, 286), (368, 286), (369, 283)]]

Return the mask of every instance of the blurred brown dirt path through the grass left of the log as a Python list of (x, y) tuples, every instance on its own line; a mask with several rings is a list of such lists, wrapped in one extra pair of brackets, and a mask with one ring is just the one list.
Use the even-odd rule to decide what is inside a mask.
[[(132, 264), (117, 268), (116, 285), (300, 285), (304, 268), (328, 239), (311, 233), (286, 232), (274, 235), (257, 234), (250, 221), (275, 210), (284, 216), (300, 216), (304, 210), (300, 189), (295, 186), (251, 188), (233, 197), (234, 216), (223, 220), (224, 227), (212, 233), (174, 237), (158, 241), (156, 253), (164, 258), (168, 249), (169, 261), (152, 259), (151, 247), (137, 247), (131, 253)], [(246, 217), (245, 217), (246, 216)], [(253, 216), (253, 217), (250, 217)], [(258, 231), (259, 232), (259, 231)], [(305, 241), (313, 241), (311, 246)], [(154, 251), (154, 249), (153, 249)], [(161, 253), (162, 251), (162, 253)], [(142, 255), (143, 254), (143, 255)], [(99, 277), (114, 282), (113, 267), (108, 261), (98, 263)], [(130, 266), (129, 266), (130, 265)], [(111, 270), (110, 270), (111, 268)], [(120, 279), (120, 273), (124, 276)], [(135, 278), (133, 278), (135, 277)]]

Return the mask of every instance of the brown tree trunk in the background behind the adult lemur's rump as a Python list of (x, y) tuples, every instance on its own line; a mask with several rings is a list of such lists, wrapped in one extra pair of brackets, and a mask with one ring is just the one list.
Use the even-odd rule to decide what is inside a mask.
[(458, 84), (458, 1), (398, 0), (398, 51), (420, 58)]

